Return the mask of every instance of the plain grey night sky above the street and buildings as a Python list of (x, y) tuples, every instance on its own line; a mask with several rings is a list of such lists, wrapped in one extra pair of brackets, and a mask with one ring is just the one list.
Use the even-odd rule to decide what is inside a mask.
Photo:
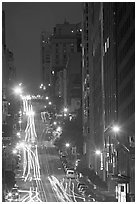
[(57, 23), (81, 21), (81, 2), (2, 2), (6, 45), (13, 51), (17, 80), (35, 93), (41, 83), (40, 34)]

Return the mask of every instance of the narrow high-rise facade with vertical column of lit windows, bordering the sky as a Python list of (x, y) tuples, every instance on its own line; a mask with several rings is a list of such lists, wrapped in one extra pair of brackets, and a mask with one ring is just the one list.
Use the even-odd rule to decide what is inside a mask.
[[(102, 148), (101, 4), (83, 4), (83, 134), (89, 166), (97, 171), (95, 151)], [(96, 160), (96, 162), (95, 162)], [(95, 164), (96, 163), (96, 164)]]

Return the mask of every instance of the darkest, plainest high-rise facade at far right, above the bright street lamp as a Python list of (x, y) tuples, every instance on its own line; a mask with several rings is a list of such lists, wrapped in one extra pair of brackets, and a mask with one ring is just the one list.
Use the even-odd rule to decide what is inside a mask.
[(118, 119), (125, 130), (122, 142), (128, 144), (135, 130), (135, 4), (119, 3), (116, 9)]

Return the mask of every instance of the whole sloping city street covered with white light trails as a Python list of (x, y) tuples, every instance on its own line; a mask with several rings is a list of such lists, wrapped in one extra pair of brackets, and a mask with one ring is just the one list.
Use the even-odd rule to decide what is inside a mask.
[[(28, 104), (27, 110), (35, 111)], [(30, 114), (24, 137), (23, 161), (20, 164), (19, 186), (21, 202), (83, 202), (75, 179), (67, 179), (56, 147), (48, 141), (46, 124), (40, 113)], [(21, 145), (20, 145), (21, 146)], [(19, 178), (20, 177), (20, 178)]]

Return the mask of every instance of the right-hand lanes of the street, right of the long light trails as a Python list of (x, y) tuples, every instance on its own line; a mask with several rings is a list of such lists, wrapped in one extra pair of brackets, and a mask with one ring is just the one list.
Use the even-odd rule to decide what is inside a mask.
[(46, 138), (46, 126), (42, 120), (35, 120), (38, 135), (38, 157), (41, 167), (41, 181), (37, 182), (42, 202), (83, 202), (78, 194), (75, 179), (67, 179), (57, 149)]

